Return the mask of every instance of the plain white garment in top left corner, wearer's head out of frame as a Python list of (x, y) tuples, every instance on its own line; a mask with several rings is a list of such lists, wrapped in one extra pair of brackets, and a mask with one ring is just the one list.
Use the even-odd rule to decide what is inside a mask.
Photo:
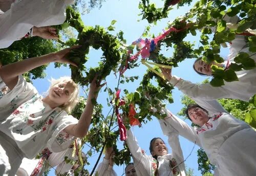
[[(24, 37), (32, 27), (62, 24), (74, 0), (22, 0), (3, 13), (0, 9), (0, 48)], [(5, 9), (6, 10), (6, 9)]]

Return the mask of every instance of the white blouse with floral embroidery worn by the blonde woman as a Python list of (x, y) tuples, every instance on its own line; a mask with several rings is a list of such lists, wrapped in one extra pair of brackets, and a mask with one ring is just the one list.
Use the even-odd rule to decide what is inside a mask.
[(61, 152), (74, 141), (63, 129), (78, 120), (60, 108), (51, 109), (42, 103), (42, 97), (22, 76), (10, 92), (2, 95), (0, 163), (6, 167), (0, 167), (0, 175), (3, 169), (15, 173), (24, 157), (33, 159), (46, 147), (51, 152)]

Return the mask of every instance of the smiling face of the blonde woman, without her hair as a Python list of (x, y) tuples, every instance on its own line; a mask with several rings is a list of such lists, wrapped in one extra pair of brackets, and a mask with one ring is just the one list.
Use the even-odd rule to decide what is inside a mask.
[(65, 105), (70, 99), (70, 95), (75, 90), (75, 87), (70, 81), (60, 81), (53, 85), (49, 90), (50, 100), (56, 104), (56, 106)]

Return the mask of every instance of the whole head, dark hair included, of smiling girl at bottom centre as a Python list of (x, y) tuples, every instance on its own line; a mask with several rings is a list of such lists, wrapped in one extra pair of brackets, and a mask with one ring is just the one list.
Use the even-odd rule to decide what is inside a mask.
[(150, 153), (156, 159), (158, 156), (164, 156), (168, 154), (168, 149), (161, 138), (153, 138), (150, 141)]

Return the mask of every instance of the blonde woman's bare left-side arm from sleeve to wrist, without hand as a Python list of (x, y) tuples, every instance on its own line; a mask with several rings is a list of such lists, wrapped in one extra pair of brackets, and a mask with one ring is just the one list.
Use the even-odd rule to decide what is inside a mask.
[(25, 59), (1, 67), (0, 76), (5, 84), (12, 89), (17, 83), (17, 76), (30, 71), (38, 66), (54, 61), (54, 54), (48, 54), (40, 57)]

